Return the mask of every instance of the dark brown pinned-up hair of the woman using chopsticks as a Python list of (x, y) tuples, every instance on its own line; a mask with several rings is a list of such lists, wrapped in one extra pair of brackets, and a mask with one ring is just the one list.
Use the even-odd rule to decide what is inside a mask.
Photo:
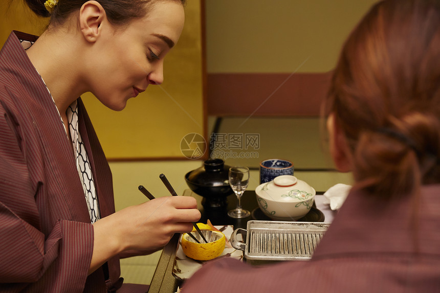
[[(105, 10), (108, 20), (114, 25), (125, 25), (130, 19), (143, 17), (152, 4), (166, 0), (96, 0)], [(186, 0), (168, 0), (182, 3)], [(59, 0), (52, 14), (46, 10), (46, 0), (25, 0), (29, 8), (38, 16), (51, 17), (50, 25), (62, 24), (74, 11), (87, 0)]]

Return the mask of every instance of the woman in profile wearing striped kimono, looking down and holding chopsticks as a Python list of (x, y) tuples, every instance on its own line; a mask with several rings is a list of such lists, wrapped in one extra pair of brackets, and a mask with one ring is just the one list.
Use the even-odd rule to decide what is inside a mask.
[[(119, 258), (162, 249), (200, 218), (194, 198), (115, 212), (111, 170), (79, 98), (122, 110), (163, 82), (183, 0), (26, 0), (41, 36), (0, 51), (0, 292), (145, 292)], [(120, 195), (123, 196), (123, 195)]]

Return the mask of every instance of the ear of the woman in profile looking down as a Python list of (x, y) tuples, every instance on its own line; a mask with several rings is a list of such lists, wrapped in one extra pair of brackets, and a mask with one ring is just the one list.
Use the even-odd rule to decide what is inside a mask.
[(107, 18), (104, 8), (96, 1), (87, 1), (79, 10), (79, 27), (85, 40), (95, 42), (102, 31), (102, 23)]

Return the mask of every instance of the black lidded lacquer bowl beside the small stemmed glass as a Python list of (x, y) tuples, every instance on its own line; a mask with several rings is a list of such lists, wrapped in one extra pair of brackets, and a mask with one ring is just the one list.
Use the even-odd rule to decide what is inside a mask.
[(202, 167), (186, 173), (186, 184), (194, 193), (203, 196), (204, 208), (228, 206), (226, 197), (234, 193), (229, 186), (229, 168), (222, 159), (209, 159)]

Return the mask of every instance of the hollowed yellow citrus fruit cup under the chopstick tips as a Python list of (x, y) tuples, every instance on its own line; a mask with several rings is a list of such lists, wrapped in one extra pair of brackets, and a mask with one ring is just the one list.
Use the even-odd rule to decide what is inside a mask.
[(183, 234), (181, 244), (185, 255), (195, 260), (211, 260), (220, 256), (225, 249), (225, 234), (213, 230), (210, 226), (203, 223), (197, 223), (197, 227), (200, 228), (208, 243), (205, 243), (199, 233), (195, 232), (195, 229), (191, 233), (200, 243), (195, 242), (187, 233)]

